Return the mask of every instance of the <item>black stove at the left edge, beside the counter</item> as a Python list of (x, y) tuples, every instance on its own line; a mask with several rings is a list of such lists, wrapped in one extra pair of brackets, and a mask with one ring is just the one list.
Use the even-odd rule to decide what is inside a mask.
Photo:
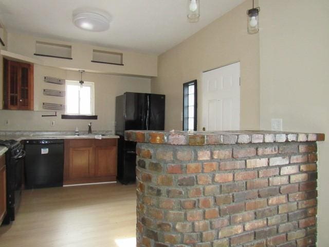
[(8, 148), (6, 152), (6, 181), (7, 181), (7, 215), (4, 223), (15, 220), (22, 195), (23, 165), (25, 151), (17, 140), (0, 140), (0, 146)]

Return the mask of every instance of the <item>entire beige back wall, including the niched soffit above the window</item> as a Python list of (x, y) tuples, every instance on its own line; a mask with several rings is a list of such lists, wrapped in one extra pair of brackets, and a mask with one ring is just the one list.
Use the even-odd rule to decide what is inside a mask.
[[(7, 37), (6, 37), (7, 39)], [(34, 58), (35, 40), (59, 43), (59, 41), (39, 39), (17, 33), (8, 33), (8, 51), (19, 55)], [(60, 42), (62, 43), (62, 42)], [(0, 110), (0, 130), (43, 130), (74, 131), (78, 127), (81, 131), (87, 130), (87, 123), (90, 120), (68, 120), (61, 119), (63, 112), (58, 112), (57, 117), (41, 117), (41, 115), (53, 114), (44, 112), (43, 102), (63, 103), (65, 98), (44, 96), (43, 89), (65, 90), (65, 86), (45, 83), (44, 76), (52, 76), (67, 80), (80, 80), (80, 73), (77, 69), (88, 71), (104, 72), (106, 74), (85, 73), (83, 80), (95, 83), (95, 114), (98, 120), (93, 122), (94, 130), (115, 130), (115, 97), (124, 92), (150, 92), (151, 79), (146, 78), (157, 74), (157, 57), (153, 55), (137, 54), (136, 52), (123, 52), (124, 66), (91, 63), (92, 50), (103, 49), (102, 47), (89, 46), (78, 43), (67, 43), (72, 45), (73, 60), (54, 59), (46, 57), (35, 57), (40, 64), (34, 64), (34, 111), (5, 111)], [(104, 48), (105, 49), (105, 48)], [(116, 50), (117, 51), (117, 50)], [(2, 57), (0, 57), (0, 74), (2, 75)], [(75, 70), (67, 70), (69, 68)], [(107, 75), (126, 74), (136, 75)], [(138, 76), (138, 77), (137, 77)], [(3, 77), (0, 77), (0, 99), (3, 100)], [(6, 126), (5, 120), (9, 119), (10, 124)], [(50, 126), (50, 121), (55, 121), (55, 126)]]

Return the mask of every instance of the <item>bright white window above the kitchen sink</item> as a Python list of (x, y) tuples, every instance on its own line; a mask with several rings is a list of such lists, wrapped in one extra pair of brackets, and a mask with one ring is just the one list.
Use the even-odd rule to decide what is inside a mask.
[(94, 82), (65, 81), (66, 114), (94, 115)]

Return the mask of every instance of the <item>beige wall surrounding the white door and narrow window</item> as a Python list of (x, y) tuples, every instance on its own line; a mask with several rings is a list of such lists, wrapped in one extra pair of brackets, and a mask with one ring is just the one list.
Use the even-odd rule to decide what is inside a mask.
[(241, 129), (259, 129), (259, 36), (247, 34), (247, 1), (158, 58), (152, 93), (166, 94), (166, 130), (182, 129), (182, 84), (198, 81), (198, 130), (202, 129), (202, 73), (241, 62)]

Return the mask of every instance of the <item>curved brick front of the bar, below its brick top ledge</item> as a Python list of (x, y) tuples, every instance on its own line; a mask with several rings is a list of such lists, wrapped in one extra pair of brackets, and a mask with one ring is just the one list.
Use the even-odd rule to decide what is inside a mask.
[(137, 246), (316, 246), (316, 140), (138, 143)]

